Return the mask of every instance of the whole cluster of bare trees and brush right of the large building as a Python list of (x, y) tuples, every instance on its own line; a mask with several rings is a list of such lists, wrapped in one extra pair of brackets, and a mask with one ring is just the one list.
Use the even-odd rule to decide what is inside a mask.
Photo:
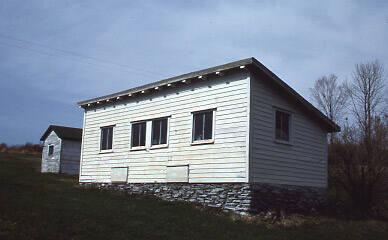
[(342, 131), (329, 135), (330, 200), (359, 216), (387, 211), (388, 111), (384, 66), (354, 66), (350, 81), (335, 74), (315, 81), (316, 106)]

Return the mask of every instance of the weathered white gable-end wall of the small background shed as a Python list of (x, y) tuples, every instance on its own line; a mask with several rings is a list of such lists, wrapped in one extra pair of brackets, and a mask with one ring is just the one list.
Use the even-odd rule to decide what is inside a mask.
[[(54, 145), (54, 153), (48, 156), (49, 145)], [(43, 143), (42, 172), (59, 173), (61, 160), (61, 139), (55, 132), (51, 132)]]

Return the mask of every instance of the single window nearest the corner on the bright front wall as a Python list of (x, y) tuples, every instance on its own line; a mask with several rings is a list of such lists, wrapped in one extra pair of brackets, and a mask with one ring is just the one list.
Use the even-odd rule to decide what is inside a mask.
[(193, 113), (193, 142), (213, 139), (213, 110)]

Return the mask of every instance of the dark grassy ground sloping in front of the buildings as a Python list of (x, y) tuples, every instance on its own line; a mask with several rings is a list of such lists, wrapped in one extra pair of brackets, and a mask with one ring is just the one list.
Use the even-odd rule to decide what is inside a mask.
[(80, 189), (39, 173), (39, 156), (0, 153), (0, 239), (388, 239), (388, 223), (248, 221), (187, 203)]

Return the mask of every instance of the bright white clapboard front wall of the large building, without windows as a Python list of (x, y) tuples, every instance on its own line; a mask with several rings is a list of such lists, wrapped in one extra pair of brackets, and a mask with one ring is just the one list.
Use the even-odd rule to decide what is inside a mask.
[[(231, 72), (85, 111), (81, 182), (166, 182), (167, 166), (189, 165), (189, 182), (247, 182), (249, 74)], [(191, 145), (193, 111), (216, 108), (214, 144)], [(168, 148), (130, 150), (131, 122), (169, 116)], [(113, 153), (99, 153), (100, 127), (115, 125)], [(147, 129), (147, 131), (150, 129)]]

